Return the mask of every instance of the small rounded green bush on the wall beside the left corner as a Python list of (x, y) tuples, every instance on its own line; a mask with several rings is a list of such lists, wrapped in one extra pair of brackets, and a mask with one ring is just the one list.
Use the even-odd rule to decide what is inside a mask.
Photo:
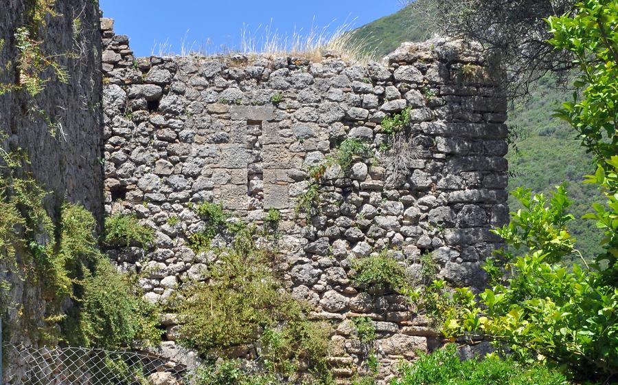
[(155, 230), (139, 223), (135, 215), (113, 214), (105, 219), (104, 243), (108, 247), (149, 248), (154, 241)]

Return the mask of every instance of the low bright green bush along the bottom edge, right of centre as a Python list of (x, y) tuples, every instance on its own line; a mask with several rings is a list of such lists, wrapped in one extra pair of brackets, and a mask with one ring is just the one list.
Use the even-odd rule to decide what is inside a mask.
[(567, 379), (545, 366), (523, 366), (490, 355), (481, 360), (461, 360), (455, 344), (448, 344), (418, 360), (400, 364), (391, 385), (567, 385)]

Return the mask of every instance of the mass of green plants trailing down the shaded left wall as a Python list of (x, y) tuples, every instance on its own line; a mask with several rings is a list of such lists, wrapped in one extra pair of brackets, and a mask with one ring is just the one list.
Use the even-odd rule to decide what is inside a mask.
[[(30, 314), (28, 303), (14, 304), (23, 306), (22, 327), (32, 338), (49, 343), (66, 340), (116, 348), (130, 346), (136, 338), (157, 340), (156, 314), (141, 300), (135, 283), (100, 252), (91, 212), (65, 203), (54, 223), (43, 204), (47, 193), (23, 171), (25, 156), (0, 152), (0, 261), (30, 285), (41, 287), (47, 302), (45, 314), (38, 315)], [(120, 238), (119, 228), (113, 228), (115, 238)], [(141, 239), (145, 233), (152, 239), (152, 233), (132, 229)], [(10, 287), (3, 289), (8, 292)], [(69, 298), (72, 306), (67, 307)], [(37, 325), (36, 318), (45, 318), (47, 327)]]

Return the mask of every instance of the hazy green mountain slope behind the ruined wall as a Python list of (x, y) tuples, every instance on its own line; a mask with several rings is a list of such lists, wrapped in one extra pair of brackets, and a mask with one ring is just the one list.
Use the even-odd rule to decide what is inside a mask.
[[(367, 51), (375, 52), (378, 57), (393, 52), (404, 41), (422, 41), (428, 36), (426, 18), (413, 14), (410, 7), (358, 28), (354, 34), (367, 46)], [(571, 213), (577, 218), (571, 232), (578, 248), (590, 258), (600, 250), (601, 234), (593, 221), (580, 218), (591, 209), (593, 201), (599, 201), (597, 190), (582, 184), (582, 176), (594, 171), (592, 157), (575, 140), (571, 126), (551, 117), (554, 109), (571, 99), (571, 94), (558, 89), (551, 77), (539, 80), (530, 88), (529, 100), (510, 111), (507, 121), (522, 134), (516, 141), (518, 151), (511, 150), (507, 155), (513, 174), (509, 190), (526, 186), (547, 194), (566, 181), (574, 201)], [(519, 208), (512, 197), (509, 205), (512, 210)]]

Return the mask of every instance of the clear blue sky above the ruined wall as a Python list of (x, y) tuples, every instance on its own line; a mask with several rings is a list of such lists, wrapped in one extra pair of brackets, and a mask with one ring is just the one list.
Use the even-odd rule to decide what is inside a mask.
[[(126, 34), (137, 56), (154, 49), (179, 54), (185, 46), (240, 47), (241, 32), (264, 36), (266, 25), (277, 34), (306, 34), (312, 25), (334, 32), (346, 23), (354, 28), (400, 9), (400, 0), (101, 0), (115, 32)], [(260, 27), (261, 25), (261, 27)], [(187, 32), (188, 31), (188, 32)]]

